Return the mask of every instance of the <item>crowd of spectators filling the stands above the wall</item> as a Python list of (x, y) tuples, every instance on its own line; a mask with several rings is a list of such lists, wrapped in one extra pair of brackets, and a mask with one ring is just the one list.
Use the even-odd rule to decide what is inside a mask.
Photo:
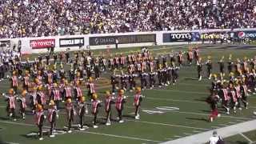
[(255, 0), (0, 1), (0, 38), (252, 27)]

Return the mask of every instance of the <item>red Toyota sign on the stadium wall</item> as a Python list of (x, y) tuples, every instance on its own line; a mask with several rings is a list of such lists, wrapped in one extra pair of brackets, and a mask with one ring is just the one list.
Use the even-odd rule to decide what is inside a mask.
[(52, 46), (55, 47), (55, 39), (30, 40), (30, 46), (32, 47), (32, 49), (44, 49), (44, 48), (50, 48)]

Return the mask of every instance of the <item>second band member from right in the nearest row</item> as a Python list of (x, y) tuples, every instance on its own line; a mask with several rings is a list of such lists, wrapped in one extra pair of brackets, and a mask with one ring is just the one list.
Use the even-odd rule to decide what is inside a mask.
[(115, 102), (115, 108), (118, 110), (118, 122), (119, 123), (124, 122), (122, 120), (122, 110), (123, 110), (124, 103), (126, 103), (126, 97), (123, 94), (124, 94), (124, 90), (119, 90), (118, 97), (116, 98), (116, 102)]

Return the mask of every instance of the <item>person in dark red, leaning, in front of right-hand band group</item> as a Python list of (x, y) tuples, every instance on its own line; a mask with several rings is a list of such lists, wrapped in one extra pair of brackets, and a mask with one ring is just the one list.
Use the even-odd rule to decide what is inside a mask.
[(206, 99), (206, 102), (208, 102), (210, 104), (210, 108), (211, 108), (209, 121), (213, 122), (214, 118), (220, 117), (220, 114), (218, 114), (218, 106), (217, 106), (218, 95), (216, 95), (214, 93), (211, 94), (210, 97)]

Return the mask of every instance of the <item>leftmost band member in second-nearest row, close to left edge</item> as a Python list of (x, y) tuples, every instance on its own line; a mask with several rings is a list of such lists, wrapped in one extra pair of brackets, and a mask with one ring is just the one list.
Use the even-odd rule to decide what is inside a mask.
[(6, 98), (6, 102), (7, 102), (6, 111), (8, 116), (10, 118), (13, 118), (14, 121), (16, 121), (14, 89), (10, 89), (8, 91), (8, 94), (3, 94), (3, 96)]

